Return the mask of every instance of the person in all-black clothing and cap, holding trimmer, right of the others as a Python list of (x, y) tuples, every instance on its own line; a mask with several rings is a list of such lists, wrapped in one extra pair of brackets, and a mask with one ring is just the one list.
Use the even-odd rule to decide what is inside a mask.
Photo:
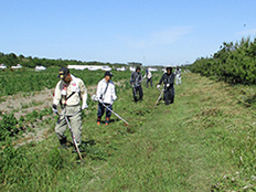
[(159, 88), (163, 82), (163, 100), (166, 102), (166, 105), (173, 104), (174, 102), (174, 78), (175, 75), (172, 73), (172, 67), (167, 67), (167, 73), (162, 75), (157, 85)]

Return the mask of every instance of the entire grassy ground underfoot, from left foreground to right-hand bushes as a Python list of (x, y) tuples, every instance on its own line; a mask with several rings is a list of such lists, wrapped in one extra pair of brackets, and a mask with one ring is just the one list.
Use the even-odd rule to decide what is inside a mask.
[[(160, 74), (154, 75), (156, 79)], [(115, 81), (115, 78), (114, 78)], [(196, 74), (183, 75), (173, 105), (146, 88), (132, 102), (127, 82), (117, 88), (109, 126), (96, 125), (95, 103), (83, 119), (84, 160), (49, 138), (1, 152), (1, 191), (256, 191), (255, 90)], [(68, 134), (68, 131), (67, 131)]]

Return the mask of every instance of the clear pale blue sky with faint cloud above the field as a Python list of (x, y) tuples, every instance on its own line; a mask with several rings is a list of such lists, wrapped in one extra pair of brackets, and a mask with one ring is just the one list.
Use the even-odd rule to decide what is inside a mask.
[(255, 0), (0, 0), (4, 54), (191, 64), (255, 38)]

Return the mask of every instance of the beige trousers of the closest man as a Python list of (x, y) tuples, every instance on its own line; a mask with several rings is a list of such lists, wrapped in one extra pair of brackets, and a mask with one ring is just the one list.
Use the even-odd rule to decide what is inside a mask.
[[(64, 114), (66, 115), (73, 115), (76, 114), (77, 111), (81, 110), (81, 106), (66, 106), (64, 110), (62, 110), (61, 116), (57, 119), (56, 126), (55, 126), (55, 132), (57, 135), (57, 138), (60, 140), (65, 139), (66, 136), (64, 135), (66, 128), (67, 128), (67, 122), (65, 120), (65, 117), (63, 116)], [(74, 135), (74, 138), (77, 143), (81, 143), (82, 141), (82, 114), (81, 111), (76, 114), (75, 116), (70, 116), (67, 117), (71, 128)]]

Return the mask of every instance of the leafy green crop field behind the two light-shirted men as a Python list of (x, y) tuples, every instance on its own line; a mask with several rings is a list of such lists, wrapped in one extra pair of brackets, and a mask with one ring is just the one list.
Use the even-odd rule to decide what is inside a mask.
[[(57, 78), (60, 67), (50, 67), (47, 71), (34, 72), (28, 68), (22, 71), (0, 71), (0, 96), (13, 95), (17, 93), (33, 93), (44, 88), (53, 88), (60, 81)], [(71, 70), (71, 73), (82, 78), (86, 86), (96, 85), (104, 77), (103, 71), (89, 72)], [(113, 72), (115, 81), (127, 79), (130, 72)], [(93, 74), (93, 75), (92, 75)], [(2, 99), (3, 100), (3, 99)]]

